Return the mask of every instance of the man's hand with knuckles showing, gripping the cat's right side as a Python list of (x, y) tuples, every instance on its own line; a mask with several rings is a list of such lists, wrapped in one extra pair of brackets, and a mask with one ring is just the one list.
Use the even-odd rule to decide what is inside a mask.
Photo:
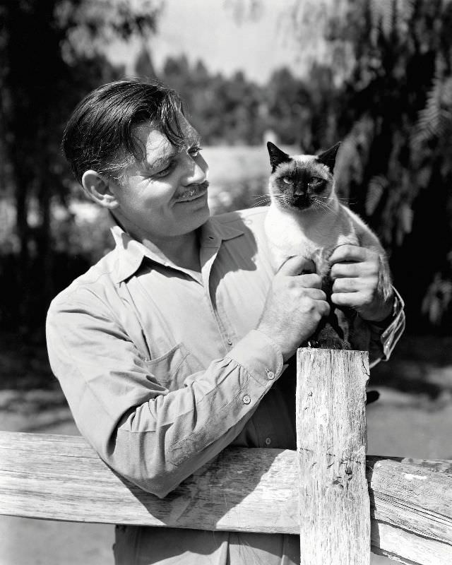
[(376, 251), (341, 245), (333, 251), (330, 262), (333, 304), (352, 307), (367, 321), (379, 322), (391, 314), (394, 296), (390, 291), (385, 297), (380, 282), (385, 267)]

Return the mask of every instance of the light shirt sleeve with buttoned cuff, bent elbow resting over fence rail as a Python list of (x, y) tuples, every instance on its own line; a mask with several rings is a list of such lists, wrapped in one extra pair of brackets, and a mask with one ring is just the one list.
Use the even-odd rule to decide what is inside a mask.
[(105, 463), (159, 497), (235, 439), (283, 370), (279, 347), (254, 330), (170, 392), (88, 291), (52, 302), (47, 348), (81, 434)]

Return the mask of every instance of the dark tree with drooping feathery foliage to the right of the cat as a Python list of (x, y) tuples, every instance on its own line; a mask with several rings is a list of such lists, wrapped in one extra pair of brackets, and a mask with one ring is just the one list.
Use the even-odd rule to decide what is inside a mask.
[(410, 327), (451, 321), (451, 0), (299, 1), (291, 16), (301, 49), (323, 30), (342, 196), (391, 253)]

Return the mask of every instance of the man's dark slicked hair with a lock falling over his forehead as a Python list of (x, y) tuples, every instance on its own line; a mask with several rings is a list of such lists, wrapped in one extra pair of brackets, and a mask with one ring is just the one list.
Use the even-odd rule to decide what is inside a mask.
[(179, 95), (158, 81), (116, 81), (96, 88), (74, 109), (64, 130), (62, 148), (73, 174), (81, 183), (93, 169), (120, 179), (131, 157), (143, 158), (143, 148), (132, 135), (133, 126), (151, 121), (180, 147), (184, 114)]

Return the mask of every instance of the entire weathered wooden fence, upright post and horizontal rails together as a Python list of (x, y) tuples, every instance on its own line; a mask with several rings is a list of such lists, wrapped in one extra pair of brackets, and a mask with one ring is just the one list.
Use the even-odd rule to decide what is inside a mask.
[(452, 564), (452, 461), (366, 456), (366, 353), (298, 367), (297, 451), (229, 448), (161, 500), (79, 436), (0, 432), (0, 514), (299, 533), (303, 565)]

